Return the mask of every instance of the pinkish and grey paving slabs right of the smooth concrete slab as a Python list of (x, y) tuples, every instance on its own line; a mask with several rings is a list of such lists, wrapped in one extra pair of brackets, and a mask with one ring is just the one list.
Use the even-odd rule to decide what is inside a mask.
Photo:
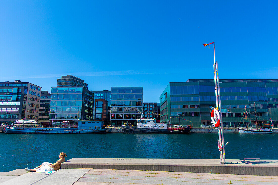
[(277, 176), (90, 169), (74, 185), (83, 184), (278, 184)]

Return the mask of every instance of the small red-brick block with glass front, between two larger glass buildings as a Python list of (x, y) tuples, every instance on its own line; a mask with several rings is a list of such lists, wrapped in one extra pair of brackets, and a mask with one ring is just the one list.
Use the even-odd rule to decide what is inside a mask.
[(95, 99), (95, 117), (96, 121), (103, 121), (104, 125), (110, 125), (110, 120), (108, 120), (108, 101), (106, 99)]

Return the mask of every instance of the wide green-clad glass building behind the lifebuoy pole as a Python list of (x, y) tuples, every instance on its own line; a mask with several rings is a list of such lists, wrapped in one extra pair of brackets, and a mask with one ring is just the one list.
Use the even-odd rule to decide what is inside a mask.
[[(267, 125), (270, 118), (277, 127), (278, 79), (223, 79), (220, 96), (223, 126), (243, 126), (240, 120), (244, 107), (251, 112), (251, 122)], [(211, 125), (210, 109), (216, 107), (214, 80), (189, 79), (187, 82), (170, 82), (160, 95), (160, 121), (183, 125)], [(240, 124), (240, 125), (239, 125)], [(245, 123), (246, 125), (246, 123)]]

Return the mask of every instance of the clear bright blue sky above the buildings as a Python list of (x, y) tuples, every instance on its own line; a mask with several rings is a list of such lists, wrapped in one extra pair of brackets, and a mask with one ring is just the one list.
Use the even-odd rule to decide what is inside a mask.
[[(51, 90), (72, 74), (89, 90), (169, 82), (278, 78), (277, 1), (1, 1), (0, 81)], [(212, 45), (210, 45), (212, 46)]]

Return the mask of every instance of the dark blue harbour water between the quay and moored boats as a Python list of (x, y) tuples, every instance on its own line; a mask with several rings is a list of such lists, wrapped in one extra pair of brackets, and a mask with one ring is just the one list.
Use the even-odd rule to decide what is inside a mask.
[[(278, 159), (278, 134), (224, 134), (226, 159)], [(218, 134), (0, 134), (0, 171), (91, 158), (219, 159)]]

